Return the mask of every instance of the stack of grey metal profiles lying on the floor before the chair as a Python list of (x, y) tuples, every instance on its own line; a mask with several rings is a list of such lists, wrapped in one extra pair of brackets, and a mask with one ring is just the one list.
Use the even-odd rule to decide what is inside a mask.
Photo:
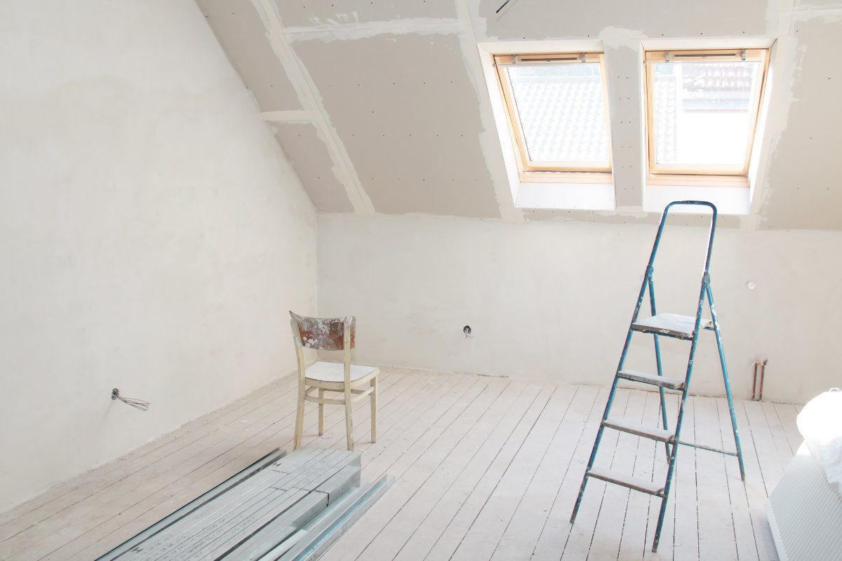
[(359, 453), (274, 450), (98, 561), (317, 559), (388, 484), (360, 484)]

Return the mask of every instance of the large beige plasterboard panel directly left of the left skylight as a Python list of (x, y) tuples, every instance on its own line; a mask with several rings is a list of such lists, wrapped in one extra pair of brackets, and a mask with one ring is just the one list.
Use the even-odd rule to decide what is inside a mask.
[(295, 49), (377, 212), (499, 217), (456, 35), (296, 41)]

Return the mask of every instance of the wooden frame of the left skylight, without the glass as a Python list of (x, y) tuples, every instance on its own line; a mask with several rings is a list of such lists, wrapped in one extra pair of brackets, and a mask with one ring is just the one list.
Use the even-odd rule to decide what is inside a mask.
[[(608, 82), (605, 76), (605, 54), (601, 52), (571, 52), (552, 54), (493, 55), (494, 71), (500, 87), (500, 96), (509, 122), (509, 135), (514, 140), (515, 158), (521, 181), (558, 182), (576, 180), (578, 183), (605, 183), (610, 181), (611, 146), (610, 119), (608, 117)], [(526, 149), (526, 141), (520, 125), (517, 103), (514, 101), (509, 66), (553, 66), (559, 64), (598, 63), (602, 80), (602, 99), (605, 104), (605, 133), (608, 141), (608, 162), (601, 161), (532, 161)]]

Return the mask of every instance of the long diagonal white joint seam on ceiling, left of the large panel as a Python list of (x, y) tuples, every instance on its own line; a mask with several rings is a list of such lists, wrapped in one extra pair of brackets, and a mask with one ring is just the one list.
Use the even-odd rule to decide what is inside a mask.
[(266, 36), (275, 56), (278, 57), (281, 66), (284, 67), (287, 77), (296, 90), (301, 107), (312, 114), (312, 124), (316, 127), (317, 134), (328, 148), (328, 154), (333, 161), (333, 173), (339, 183), (345, 188), (351, 206), (356, 214), (374, 214), (374, 205), (368, 193), (360, 183), (360, 177), (354, 169), (354, 164), (336, 129), (331, 123), (328, 112), (322, 104), (318, 88), (312, 81), (310, 73), (306, 70), (304, 63), (296, 55), (290, 43), (283, 33), (283, 24), (280, 15), (275, 11), (271, 0), (252, 0), (253, 6), (257, 9), (266, 28)]

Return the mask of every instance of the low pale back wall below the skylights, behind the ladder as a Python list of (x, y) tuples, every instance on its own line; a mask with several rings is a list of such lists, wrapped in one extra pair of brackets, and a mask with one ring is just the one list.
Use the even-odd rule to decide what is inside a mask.
[[(358, 361), (586, 384), (610, 384), (656, 230), (419, 215), (318, 220), (319, 310), (357, 315)], [(675, 225), (666, 236), (655, 263), (658, 310), (695, 315), (706, 229)], [(838, 231), (718, 230), (712, 287), (737, 397), (749, 397), (760, 357), (769, 358), (766, 399), (803, 403), (840, 384), (839, 255)], [(654, 372), (651, 337), (632, 341), (627, 366)], [(683, 377), (688, 350), (663, 342), (666, 375)], [(710, 332), (692, 388), (722, 392)]]

